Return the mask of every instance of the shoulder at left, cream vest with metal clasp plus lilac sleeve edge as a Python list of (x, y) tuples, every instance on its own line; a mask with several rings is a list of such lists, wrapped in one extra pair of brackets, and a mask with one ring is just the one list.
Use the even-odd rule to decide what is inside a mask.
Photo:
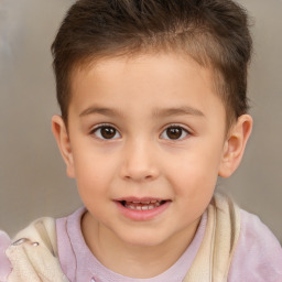
[[(34, 220), (11, 243), (0, 232), (0, 281), (68, 281), (57, 258), (55, 219)], [(46, 267), (47, 265), (47, 267)]]

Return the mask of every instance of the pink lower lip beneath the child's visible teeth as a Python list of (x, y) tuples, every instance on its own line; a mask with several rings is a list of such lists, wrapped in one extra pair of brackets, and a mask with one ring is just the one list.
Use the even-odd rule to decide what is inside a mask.
[(170, 206), (171, 202), (167, 200), (164, 204), (162, 204), (159, 207), (152, 208), (152, 209), (147, 209), (147, 210), (139, 210), (139, 209), (130, 209), (124, 207), (120, 202), (116, 202), (119, 210), (121, 214), (135, 221), (145, 221), (145, 220), (151, 220), (164, 213), (164, 210)]

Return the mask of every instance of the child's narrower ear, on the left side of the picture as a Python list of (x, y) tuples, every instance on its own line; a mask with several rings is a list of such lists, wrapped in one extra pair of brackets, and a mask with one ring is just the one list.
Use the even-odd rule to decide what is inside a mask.
[(70, 178), (75, 177), (74, 159), (68, 132), (61, 116), (52, 118), (52, 131), (57, 141), (58, 149), (66, 164), (66, 173)]

